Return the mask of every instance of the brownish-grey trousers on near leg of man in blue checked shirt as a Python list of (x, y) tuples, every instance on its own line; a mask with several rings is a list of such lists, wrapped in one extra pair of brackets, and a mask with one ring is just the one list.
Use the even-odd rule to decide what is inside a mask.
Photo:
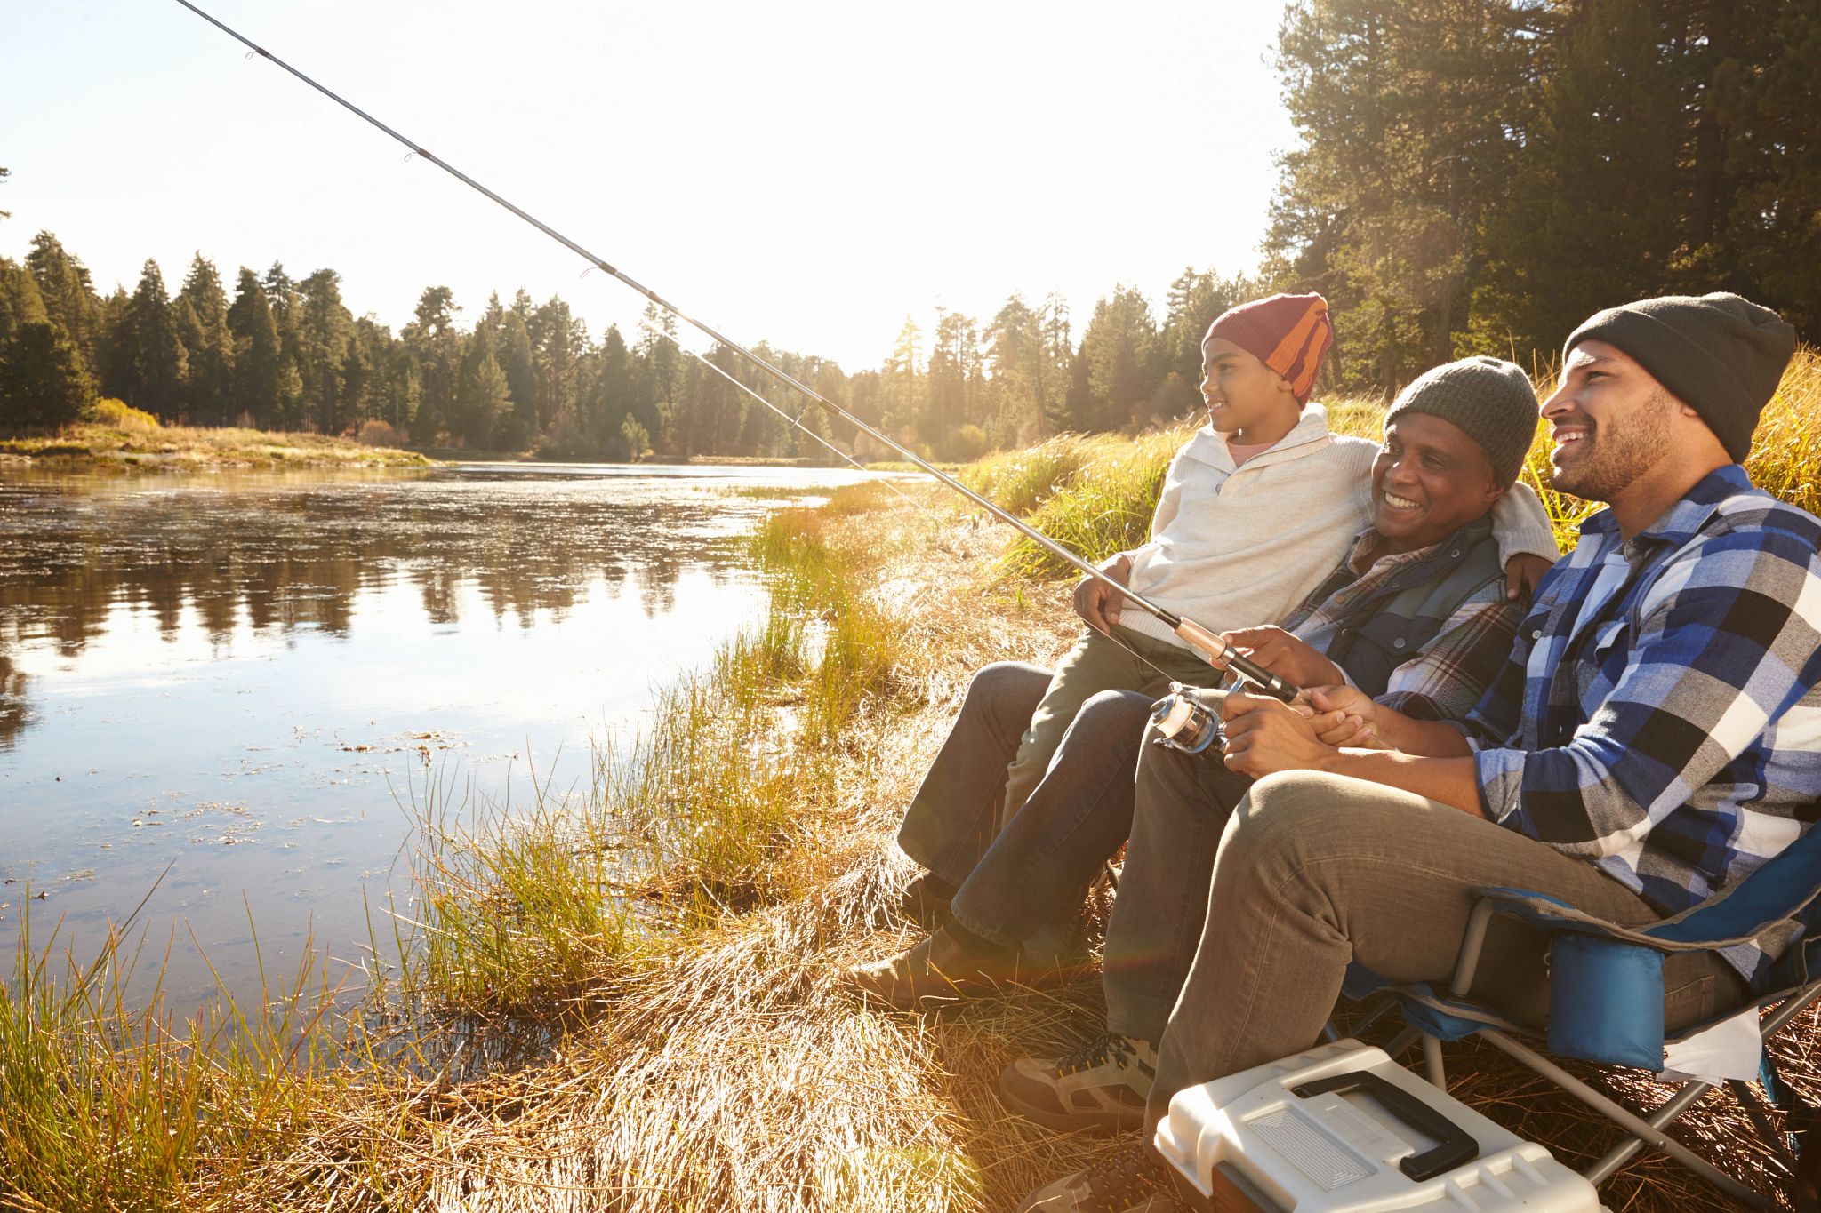
[[(1349, 960), (1393, 982), (1448, 980), (1484, 886), (1535, 889), (1613, 922), (1663, 917), (1592, 864), (1479, 815), (1309, 771), (1253, 784), (1215, 855), (1147, 1128), (1176, 1091), (1309, 1048)], [(1544, 951), (1542, 935), (1495, 918), (1473, 997), (1542, 1024)], [(1672, 1029), (1745, 998), (1745, 980), (1714, 953), (1672, 955), (1663, 980)]]

